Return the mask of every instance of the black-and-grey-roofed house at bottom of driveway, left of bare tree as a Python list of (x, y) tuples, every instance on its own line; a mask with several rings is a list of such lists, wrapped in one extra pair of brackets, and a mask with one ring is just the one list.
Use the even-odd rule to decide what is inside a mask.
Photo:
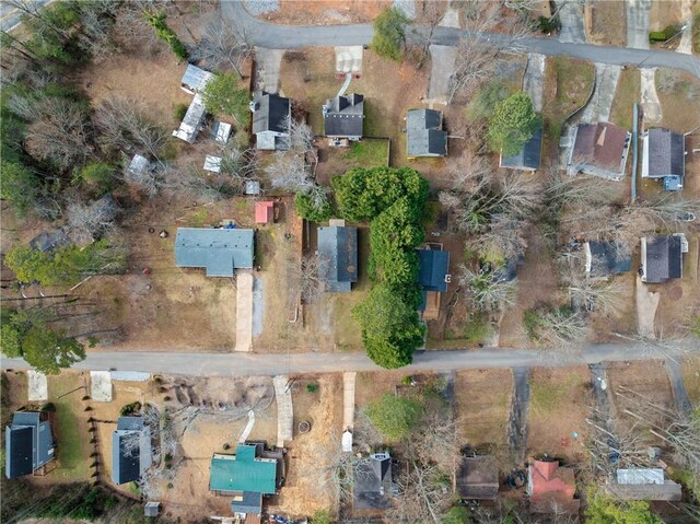
[(256, 148), (264, 151), (288, 150), (289, 126), (292, 118), (290, 100), (264, 91), (250, 102), (250, 110)]

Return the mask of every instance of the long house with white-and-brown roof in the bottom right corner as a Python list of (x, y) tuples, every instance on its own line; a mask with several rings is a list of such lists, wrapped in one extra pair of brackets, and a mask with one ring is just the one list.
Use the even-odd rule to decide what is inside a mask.
[(604, 490), (619, 500), (680, 500), (682, 488), (661, 468), (618, 469)]

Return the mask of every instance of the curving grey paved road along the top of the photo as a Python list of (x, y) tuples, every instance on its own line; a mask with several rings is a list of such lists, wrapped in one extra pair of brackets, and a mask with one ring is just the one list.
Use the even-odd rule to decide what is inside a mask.
[[(241, 28), (247, 42), (270, 49), (287, 49), (307, 46), (353, 46), (372, 40), (373, 30), (369, 24), (291, 26), (270, 24), (248, 14), (240, 1), (223, 0), (221, 13)], [(456, 27), (436, 27), (433, 44), (456, 46), (464, 31)], [(410, 35), (409, 35), (410, 37)], [(508, 45), (505, 35), (491, 33), (488, 40), (495, 46)], [(667, 67), (681, 69), (700, 78), (700, 58), (674, 51), (626, 49), (595, 46), (592, 44), (567, 44), (553, 38), (527, 37), (517, 42), (523, 53), (539, 53), (547, 56), (570, 56), (593, 62), (617, 66)]]

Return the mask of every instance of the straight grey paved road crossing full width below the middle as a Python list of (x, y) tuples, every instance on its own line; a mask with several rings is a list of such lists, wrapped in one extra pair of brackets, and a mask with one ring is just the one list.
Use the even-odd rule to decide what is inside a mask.
[[(664, 359), (667, 352), (656, 358)], [(404, 368), (418, 371), (451, 371), (487, 368), (533, 368), (595, 364), (604, 361), (646, 360), (654, 358), (649, 346), (595, 345), (581, 356), (553, 359), (522, 349), (479, 349), (425, 351)], [(26, 369), (21, 359), (2, 359), (3, 369)], [(149, 351), (101, 351), (74, 365), (78, 370), (142, 371), (190, 376), (258, 376), (296, 373), (332, 373), (339, 371), (382, 371), (364, 353), (190, 353)]]

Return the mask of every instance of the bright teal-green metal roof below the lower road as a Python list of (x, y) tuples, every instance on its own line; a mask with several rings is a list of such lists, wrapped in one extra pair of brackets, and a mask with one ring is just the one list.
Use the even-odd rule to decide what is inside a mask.
[(277, 461), (256, 458), (255, 446), (238, 444), (235, 455), (214, 455), (211, 458), (209, 489), (213, 491), (254, 491), (275, 494)]

